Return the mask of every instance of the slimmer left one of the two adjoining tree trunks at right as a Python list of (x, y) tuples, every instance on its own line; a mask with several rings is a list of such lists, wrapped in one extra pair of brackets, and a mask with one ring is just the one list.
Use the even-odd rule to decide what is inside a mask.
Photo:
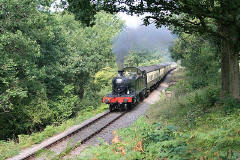
[(222, 40), (221, 47), (221, 97), (224, 98), (229, 94), (229, 51), (226, 40)]

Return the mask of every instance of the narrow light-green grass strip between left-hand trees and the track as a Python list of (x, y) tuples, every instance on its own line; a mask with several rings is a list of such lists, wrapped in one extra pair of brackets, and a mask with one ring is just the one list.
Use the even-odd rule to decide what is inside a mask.
[(69, 119), (59, 126), (49, 125), (42, 132), (32, 133), (31, 135), (19, 135), (19, 143), (16, 143), (13, 140), (0, 141), (0, 159), (6, 159), (15, 156), (22, 149), (30, 147), (33, 144), (38, 144), (53, 135), (61, 133), (67, 128), (77, 125), (84, 120), (103, 112), (107, 108), (107, 105), (102, 104), (97, 109), (84, 109), (80, 111), (75, 118)]

